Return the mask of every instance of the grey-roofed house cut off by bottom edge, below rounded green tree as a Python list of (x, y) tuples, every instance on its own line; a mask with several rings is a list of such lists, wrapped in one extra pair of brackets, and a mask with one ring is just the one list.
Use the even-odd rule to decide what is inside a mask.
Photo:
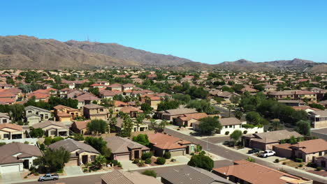
[(233, 182), (217, 176), (205, 169), (182, 165), (174, 169), (165, 169), (160, 174), (161, 183), (187, 183), (187, 184), (232, 184)]

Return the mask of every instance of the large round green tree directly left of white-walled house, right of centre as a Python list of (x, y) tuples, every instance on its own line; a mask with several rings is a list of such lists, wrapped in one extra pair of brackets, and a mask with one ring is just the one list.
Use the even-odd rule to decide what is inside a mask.
[(221, 129), (218, 117), (201, 118), (198, 129), (203, 135), (211, 135), (216, 129)]

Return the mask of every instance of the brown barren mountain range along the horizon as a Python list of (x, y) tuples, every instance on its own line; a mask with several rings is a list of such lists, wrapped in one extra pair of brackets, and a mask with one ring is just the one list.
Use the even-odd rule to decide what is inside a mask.
[(155, 54), (117, 43), (92, 43), (0, 36), (1, 69), (90, 69), (96, 67), (168, 67), (171, 70), (298, 70), (327, 72), (326, 63), (304, 59), (252, 62), (245, 59), (210, 65), (172, 55)]

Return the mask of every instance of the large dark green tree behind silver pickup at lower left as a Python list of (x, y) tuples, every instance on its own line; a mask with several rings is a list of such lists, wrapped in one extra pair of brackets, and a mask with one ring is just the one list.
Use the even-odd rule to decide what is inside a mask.
[(48, 149), (43, 152), (43, 156), (34, 160), (34, 164), (38, 165), (43, 173), (52, 173), (63, 169), (70, 157), (71, 154), (62, 147)]

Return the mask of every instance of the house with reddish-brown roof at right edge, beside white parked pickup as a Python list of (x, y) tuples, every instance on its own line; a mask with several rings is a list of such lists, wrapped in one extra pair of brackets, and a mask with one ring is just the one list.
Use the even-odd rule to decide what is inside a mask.
[(311, 162), (314, 158), (327, 155), (327, 141), (312, 139), (296, 144), (279, 144), (273, 146), (273, 150), (284, 158), (302, 158), (303, 162)]

